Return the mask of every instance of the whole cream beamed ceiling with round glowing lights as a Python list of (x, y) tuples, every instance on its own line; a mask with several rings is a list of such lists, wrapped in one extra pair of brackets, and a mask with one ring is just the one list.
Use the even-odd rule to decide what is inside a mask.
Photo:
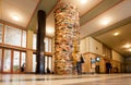
[[(124, 57), (131, 57), (126, 44), (131, 44), (131, 0), (0, 0), (0, 20), (20, 25), (26, 29), (37, 31), (37, 11), (47, 14), (46, 33), (53, 37), (53, 11), (59, 2), (70, 2), (80, 12), (80, 36), (92, 36)], [(24, 7), (23, 7), (24, 5)], [(10, 8), (10, 9), (9, 9)], [(12, 20), (9, 14), (16, 12), (21, 21)], [(118, 36), (114, 36), (119, 32)]]

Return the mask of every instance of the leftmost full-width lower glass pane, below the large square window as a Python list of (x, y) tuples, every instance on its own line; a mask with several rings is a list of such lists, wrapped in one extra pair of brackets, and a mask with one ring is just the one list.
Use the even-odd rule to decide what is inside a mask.
[(11, 71), (11, 50), (4, 50), (3, 72)]

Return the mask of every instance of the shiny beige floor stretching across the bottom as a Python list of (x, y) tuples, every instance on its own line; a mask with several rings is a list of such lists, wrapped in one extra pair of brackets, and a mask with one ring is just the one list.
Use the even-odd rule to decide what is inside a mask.
[(131, 85), (131, 74), (0, 74), (0, 85)]

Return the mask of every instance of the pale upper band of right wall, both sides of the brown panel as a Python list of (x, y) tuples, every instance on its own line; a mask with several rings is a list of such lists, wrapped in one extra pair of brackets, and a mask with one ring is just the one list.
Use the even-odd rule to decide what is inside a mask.
[[(95, 40), (92, 37), (86, 37), (86, 38), (81, 40), (80, 51), (82, 53), (92, 52), (92, 53), (103, 56), (103, 44)], [(118, 53), (114, 50), (112, 50), (112, 60), (116, 60), (116, 61), (119, 61), (119, 62), (124, 61), (123, 57), (120, 53)]]

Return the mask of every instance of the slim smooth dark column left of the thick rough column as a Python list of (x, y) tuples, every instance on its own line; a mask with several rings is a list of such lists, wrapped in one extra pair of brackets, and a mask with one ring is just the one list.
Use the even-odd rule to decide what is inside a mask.
[(45, 35), (46, 35), (46, 13), (43, 10), (38, 11), (38, 31), (37, 31), (37, 65), (36, 73), (44, 74), (45, 73)]

